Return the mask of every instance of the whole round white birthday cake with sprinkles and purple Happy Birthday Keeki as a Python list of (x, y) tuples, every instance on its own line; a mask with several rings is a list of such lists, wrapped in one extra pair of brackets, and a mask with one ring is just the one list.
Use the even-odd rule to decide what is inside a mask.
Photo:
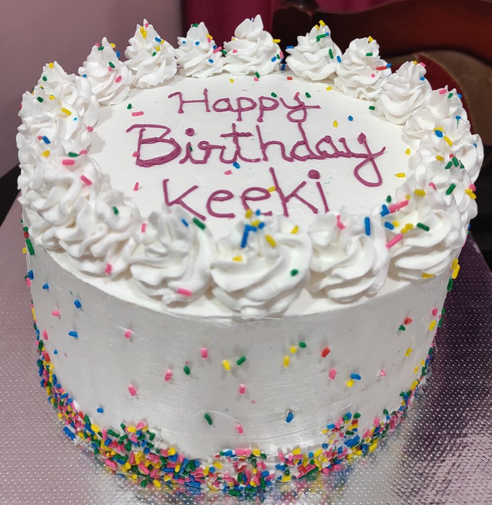
[[(476, 214), (455, 89), (321, 23), (177, 48), (144, 20), (42, 69), (17, 142), (41, 385), (142, 486), (250, 495), (405, 416)], [(35, 312), (34, 312), (35, 308)], [(430, 349), (430, 350), (429, 350)]]

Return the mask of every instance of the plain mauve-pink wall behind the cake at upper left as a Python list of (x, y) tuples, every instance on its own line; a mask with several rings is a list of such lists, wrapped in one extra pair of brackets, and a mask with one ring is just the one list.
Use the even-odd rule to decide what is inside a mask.
[[(174, 46), (181, 35), (180, 0), (11, 0), (0, 16), (0, 177), (17, 165), (15, 135), (22, 93), (45, 63), (77, 72), (91, 46), (107, 36), (123, 53), (144, 17)], [(7, 3), (4, 3), (7, 7)]]

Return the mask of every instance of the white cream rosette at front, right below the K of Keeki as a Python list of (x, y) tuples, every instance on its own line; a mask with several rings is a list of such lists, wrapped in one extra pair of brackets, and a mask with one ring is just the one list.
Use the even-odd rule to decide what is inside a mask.
[(130, 271), (144, 293), (169, 305), (205, 292), (213, 241), (201, 222), (181, 208), (164, 206), (149, 216), (135, 240)]

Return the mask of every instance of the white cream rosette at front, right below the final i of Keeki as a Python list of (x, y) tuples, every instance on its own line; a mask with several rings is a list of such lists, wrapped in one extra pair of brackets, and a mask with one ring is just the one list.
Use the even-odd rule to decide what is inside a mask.
[(346, 302), (379, 291), (388, 273), (386, 237), (378, 219), (342, 209), (318, 215), (308, 228), (312, 242), (308, 289)]

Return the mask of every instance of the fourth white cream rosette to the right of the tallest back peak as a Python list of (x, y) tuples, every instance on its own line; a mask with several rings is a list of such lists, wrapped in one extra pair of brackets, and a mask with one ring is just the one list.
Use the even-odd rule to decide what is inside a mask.
[(434, 128), (446, 129), (453, 123), (467, 119), (456, 89), (449, 91), (448, 86), (434, 89), (405, 123), (403, 138), (413, 149), (418, 149), (422, 137), (434, 131)]

